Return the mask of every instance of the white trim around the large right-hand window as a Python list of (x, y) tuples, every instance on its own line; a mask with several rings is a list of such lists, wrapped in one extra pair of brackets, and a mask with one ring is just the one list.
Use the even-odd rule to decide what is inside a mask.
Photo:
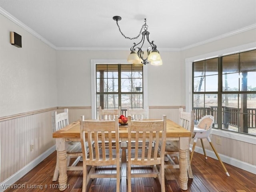
[[(256, 42), (248, 43), (248, 44), (244, 44), (244, 45), (240, 45), (240, 46), (232, 47), (232, 48), (228, 48), (228, 49), (223, 49), (223, 50), (215, 51), (215, 52), (211, 52), (211, 53), (206, 53), (204, 55), (198, 55), (195, 57), (190, 57), (190, 58), (185, 59), (186, 111), (188, 112), (188, 111), (192, 110), (192, 90), (193, 90), (193, 87), (192, 87), (192, 63), (194, 61), (206, 60), (206, 59), (210, 59), (210, 58), (214, 58), (214, 57), (221, 57), (223, 55), (240, 53), (240, 52), (249, 51), (252, 49), (256, 49)], [(250, 135), (244, 135), (241, 133), (233, 133), (230, 131), (224, 131), (224, 130), (220, 130), (220, 129), (212, 129), (212, 134), (219, 135), (222, 137), (228, 137), (231, 139), (236, 139), (238, 141), (244, 141), (246, 143), (256, 144), (255, 137), (250, 136)]]

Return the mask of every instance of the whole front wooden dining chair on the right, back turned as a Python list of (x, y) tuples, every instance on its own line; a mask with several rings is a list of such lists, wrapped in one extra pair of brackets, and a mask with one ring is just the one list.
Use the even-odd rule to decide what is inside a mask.
[[(162, 147), (158, 150), (159, 142)], [(135, 141), (135, 149), (132, 142)], [(140, 148), (138, 141), (142, 142)], [(153, 141), (155, 145), (153, 146)], [(161, 192), (165, 192), (164, 184), (164, 148), (166, 142), (166, 116), (162, 120), (131, 120), (128, 116), (128, 155), (127, 155), (127, 182), (128, 192), (131, 192), (131, 179), (138, 177), (158, 177)], [(159, 166), (159, 169), (157, 167)], [(134, 168), (140, 172), (132, 171)], [(146, 170), (144, 170), (146, 169)], [(149, 171), (149, 169), (152, 169)]]

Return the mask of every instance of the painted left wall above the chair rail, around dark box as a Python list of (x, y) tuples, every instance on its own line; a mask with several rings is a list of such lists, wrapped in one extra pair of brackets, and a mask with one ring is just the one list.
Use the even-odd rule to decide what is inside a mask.
[[(22, 36), (22, 48), (10, 43)], [(0, 117), (57, 106), (56, 50), (0, 14)]]

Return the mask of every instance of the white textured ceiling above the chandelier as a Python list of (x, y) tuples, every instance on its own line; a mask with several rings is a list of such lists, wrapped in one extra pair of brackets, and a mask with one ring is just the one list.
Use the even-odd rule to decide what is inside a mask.
[(159, 50), (186, 49), (256, 27), (256, 0), (0, 0), (0, 7), (56, 49), (130, 49), (141, 37), (125, 39), (113, 16), (122, 17), (118, 23), (128, 37), (138, 35), (146, 18)]

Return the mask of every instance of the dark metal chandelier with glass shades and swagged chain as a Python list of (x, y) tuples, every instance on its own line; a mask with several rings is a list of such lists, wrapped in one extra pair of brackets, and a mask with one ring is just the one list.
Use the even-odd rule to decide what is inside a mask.
[[(113, 20), (116, 21), (116, 25), (118, 26), (118, 29), (120, 31), (120, 33), (126, 38), (126, 39), (137, 39), (140, 35), (142, 35), (142, 39), (139, 43), (133, 43), (133, 46), (131, 47), (130, 51), (130, 55), (128, 56), (127, 61), (129, 63), (132, 63), (134, 65), (146, 65), (146, 64), (151, 64), (151, 65), (162, 65), (162, 59), (160, 57), (159, 51), (156, 49), (156, 44), (154, 44), (154, 41), (149, 41), (149, 37), (148, 35), (150, 34), (148, 31), (148, 25), (146, 24), (146, 19), (145, 19), (145, 24), (142, 25), (141, 29), (140, 29), (140, 33), (136, 36), (136, 37), (126, 37), (124, 35), (124, 33), (122, 33), (120, 26), (118, 25), (118, 21), (120, 21), (122, 18), (120, 16), (114, 16)], [(143, 32), (142, 29), (144, 29)], [(146, 59), (144, 59), (144, 51), (142, 51), (142, 46), (145, 42), (145, 39), (148, 41), (149, 43), (149, 47), (147, 49), (147, 57)]]

